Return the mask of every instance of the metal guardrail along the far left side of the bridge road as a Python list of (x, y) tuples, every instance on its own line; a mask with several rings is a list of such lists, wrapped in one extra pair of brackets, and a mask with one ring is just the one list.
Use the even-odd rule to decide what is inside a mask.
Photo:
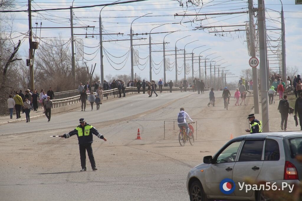
[[(159, 90), (159, 88), (157, 88), (157, 91)], [(162, 87), (163, 91), (170, 91), (170, 87)], [(172, 91), (179, 91), (180, 88), (179, 87), (173, 87)], [(192, 87), (188, 87), (187, 90), (192, 90)], [(209, 90), (207, 88), (205, 88), (205, 90)], [(141, 90), (142, 91), (142, 90)], [(137, 87), (126, 87), (125, 89), (125, 93), (137, 93)], [(57, 95), (56, 95), (57, 94)], [(96, 92), (94, 92), (93, 94), (96, 95)], [(74, 103), (78, 103), (80, 102), (80, 95), (78, 93), (78, 90), (71, 90), (71, 91), (65, 91), (65, 92), (59, 92), (59, 93), (55, 93), (55, 97), (58, 98), (60, 96), (69, 96), (70, 97), (65, 97), (65, 98), (59, 98), (59, 99), (53, 99), (53, 108), (59, 108), (59, 107), (63, 107), (63, 106), (67, 106), (67, 105), (71, 105)], [(74, 95), (74, 96), (71, 96)], [(119, 92), (117, 90), (117, 88), (115, 89), (111, 89), (111, 90), (105, 90), (103, 91), (103, 96), (102, 98), (106, 98), (108, 99), (108, 97), (110, 96), (119, 96)]]

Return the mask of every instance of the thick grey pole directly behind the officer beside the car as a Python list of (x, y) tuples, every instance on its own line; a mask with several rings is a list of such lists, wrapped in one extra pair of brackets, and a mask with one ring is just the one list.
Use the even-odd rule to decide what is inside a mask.
[(259, 53), (260, 53), (260, 78), (261, 78), (261, 107), (262, 107), (262, 131), (269, 132), (268, 116), (268, 92), (266, 61), (265, 61), (265, 26), (264, 26), (264, 5), (263, 0), (258, 0), (258, 32), (259, 32)]

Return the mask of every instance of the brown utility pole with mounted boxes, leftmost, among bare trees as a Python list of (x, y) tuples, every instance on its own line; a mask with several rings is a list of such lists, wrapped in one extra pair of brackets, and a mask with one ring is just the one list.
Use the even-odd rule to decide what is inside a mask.
[(34, 50), (32, 48), (33, 34), (31, 28), (31, 0), (28, 0), (28, 27), (29, 27), (29, 73), (30, 73), (30, 89), (34, 90)]

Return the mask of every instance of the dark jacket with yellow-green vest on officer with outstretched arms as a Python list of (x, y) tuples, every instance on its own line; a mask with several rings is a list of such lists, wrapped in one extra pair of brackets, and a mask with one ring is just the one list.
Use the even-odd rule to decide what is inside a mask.
[(82, 127), (81, 124), (75, 128), (75, 130), (70, 131), (63, 135), (65, 138), (69, 138), (73, 135), (78, 136), (79, 145), (91, 144), (93, 141), (92, 134), (95, 134), (98, 138), (103, 139), (104, 136), (101, 135), (95, 127), (85, 123), (85, 126)]

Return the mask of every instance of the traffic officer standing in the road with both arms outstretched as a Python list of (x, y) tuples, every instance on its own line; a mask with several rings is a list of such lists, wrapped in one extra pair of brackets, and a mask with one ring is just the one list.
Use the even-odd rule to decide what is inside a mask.
[(78, 127), (76, 127), (74, 130), (72, 130), (69, 133), (66, 133), (64, 135), (61, 135), (61, 137), (65, 137), (65, 138), (69, 138), (73, 135), (78, 136), (81, 166), (82, 166), (82, 169), (80, 170), (81, 172), (86, 171), (86, 150), (87, 150), (87, 154), (89, 157), (89, 161), (91, 163), (92, 170), (93, 171), (98, 170), (95, 166), (95, 159), (94, 159), (93, 153), (92, 153), (92, 146), (91, 146), (92, 141), (93, 141), (92, 134), (95, 134), (96, 136), (98, 136), (98, 138), (101, 138), (104, 141), (107, 141), (107, 139), (103, 135), (101, 135), (95, 129), (95, 127), (87, 124), (85, 122), (84, 118), (80, 118), (80, 125)]

